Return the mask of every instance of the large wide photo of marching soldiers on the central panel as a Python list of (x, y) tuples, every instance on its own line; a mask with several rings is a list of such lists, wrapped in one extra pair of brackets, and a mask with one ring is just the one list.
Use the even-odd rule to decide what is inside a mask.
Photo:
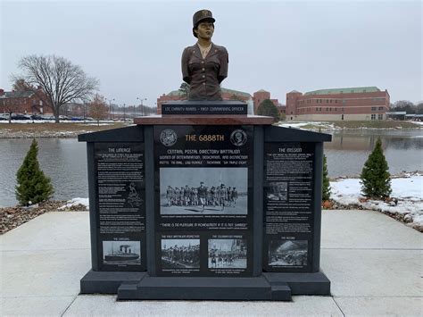
[(247, 214), (247, 168), (160, 169), (161, 214)]

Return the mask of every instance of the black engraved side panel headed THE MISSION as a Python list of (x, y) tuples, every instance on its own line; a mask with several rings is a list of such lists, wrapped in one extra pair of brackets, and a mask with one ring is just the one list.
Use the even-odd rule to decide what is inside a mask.
[(264, 145), (263, 271), (312, 270), (314, 160), (314, 143)]

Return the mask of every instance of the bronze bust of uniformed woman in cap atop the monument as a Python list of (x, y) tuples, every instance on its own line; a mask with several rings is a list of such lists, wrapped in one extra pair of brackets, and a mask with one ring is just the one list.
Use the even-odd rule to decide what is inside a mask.
[(228, 77), (228, 51), (211, 42), (214, 18), (210, 10), (193, 16), (194, 46), (182, 53), (182, 79), (190, 85), (189, 100), (222, 100), (220, 83)]

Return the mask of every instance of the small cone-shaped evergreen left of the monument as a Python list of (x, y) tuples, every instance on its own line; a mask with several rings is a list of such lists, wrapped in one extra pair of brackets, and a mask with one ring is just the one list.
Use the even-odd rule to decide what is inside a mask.
[(22, 205), (44, 202), (54, 193), (50, 179), (39, 168), (37, 154), (38, 146), (34, 138), (21, 168), (16, 173), (18, 185), (15, 195)]

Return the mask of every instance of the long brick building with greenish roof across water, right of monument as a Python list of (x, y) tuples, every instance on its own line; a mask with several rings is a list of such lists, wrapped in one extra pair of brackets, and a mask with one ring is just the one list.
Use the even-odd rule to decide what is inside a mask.
[(386, 120), (389, 94), (377, 87), (336, 88), (286, 94), (287, 121)]

